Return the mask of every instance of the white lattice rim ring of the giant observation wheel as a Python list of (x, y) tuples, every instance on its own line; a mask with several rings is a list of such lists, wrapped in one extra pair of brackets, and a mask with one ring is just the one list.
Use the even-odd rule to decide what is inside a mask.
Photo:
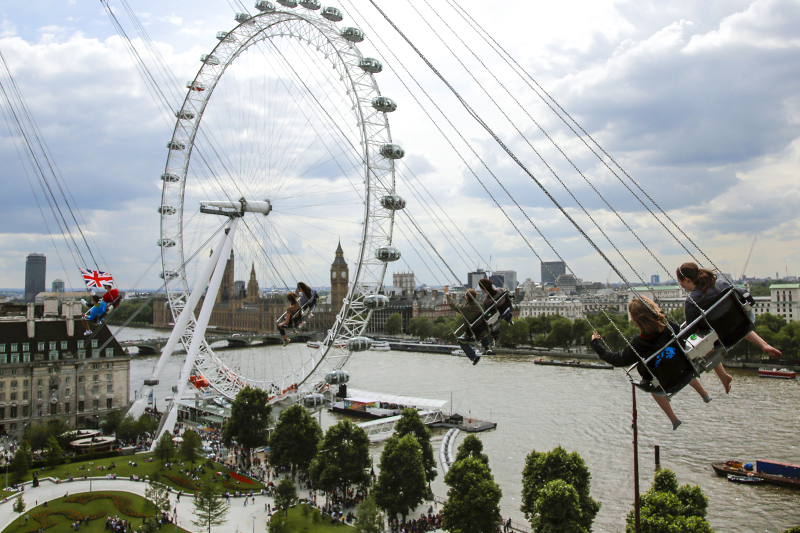
[[(360, 146), (363, 150), (363, 232), (356, 266), (351, 273), (348, 296), (322, 347), (311, 352), (301, 368), (279, 379), (250, 378), (229, 368), (203, 340), (195, 369), (209, 381), (211, 387), (228, 398), (234, 398), (245, 386), (276, 393), (287, 390), (298, 393), (320, 392), (326, 388), (325, 376), (341, 370), (350, 357), (350, 351), (341, 346), (346, 345), (349, 339), (360, 336), (369, 321), (371, 312), (363, 305), (363, 296), (374, 294), (382, 287), (386, 262), (378, 260), (375, 251), (392, 243), (394, 211), (381, 209), (380, 206), (382, 195), (394, 194), (394, 161), (381, 155), (381, 148), (391, 145), (391, 133), (386, 113), (369, 108), (372, 99), (381, 96), (381, 93), (374, 76), (358, 66), (363, 56), (353, 42), (342, 36), (341, 30), (312, 10), (286, 9), (255, 15), (240, 23), (220, 40), (209, 54), (215, 60), (204, 61), (195, 79), (187, 85), (190, 90), (187, 91), (181, 109), (176, 112), (176, 125), (169, 142), (164, 171), (166, 179), (163, 179), (159, 239), (162, 276), (166, 282), (166, 294), (173, 317), (177, 319), (189, 296), (190, 284), (185, 268), (183, 234), (184, 194), (191, 154), (203, 112), (231, 62), (253, 44), (278, 36), (295, 37), (307, 42), (309, 46), (316, 46), (318, 51), (331, 60), (340, 80), (347, 86), (347, 94), (352, 95), (353, 112), (358, 121)], [(201, 91), (192, 90), (193, 87), (201, 86)], [(194, 209), (194, 206), (190, 209)], [(168, 243), (172, 243), (172, 246)], [(181, 337), (187, 351), (192, 341), (194, 325), (192, 317)], [(278, 396), (276, 394), (276, 399)]]

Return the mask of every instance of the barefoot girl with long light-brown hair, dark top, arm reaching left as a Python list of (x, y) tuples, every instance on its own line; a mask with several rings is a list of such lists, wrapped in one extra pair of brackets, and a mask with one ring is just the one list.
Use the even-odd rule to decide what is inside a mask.
[[(596, 331), (592, 332), (592, 349), (600, 359), (616, 367), (633, 365), (639, 362), (639, 358), (642, 360), (647, 359), (673, 338), (673, 332), (678, 333), (680, 330), (680, 326), (674, 322), (667, 321), (667, 318), (655, 302), (644, 296), (631, 300), (628, 304), (628, 312), (631, 314), (631, 320), (639, 328), (640, 333), (634, 335), (625, 348), (619, 352), (608, 350), (600, 341), (600, 335)], [(641, 363), (636, 369), (644, 379), (652, 379), (652, 375)], [(711, 396), (703, 388), (700, 380), (695, 378), (689, 385), (702, 396), (706, 403), (711, 401)], [(681, 421), (672, 410), (669, 398), (653, 394), (653, 399), (669, 417), (672, 422), (672, 429), (677, 429), (681, 425)]]

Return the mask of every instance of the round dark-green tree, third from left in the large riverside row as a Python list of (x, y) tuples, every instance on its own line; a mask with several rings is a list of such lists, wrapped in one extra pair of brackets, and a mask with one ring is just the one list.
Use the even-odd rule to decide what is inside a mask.
[(351, 486), (367, 486), (369, 468), (367, 433), (349, 420), (342, 420), (325, 432), (320, 452), (308, 471), (320, 490), (339, 489), (344, 494)]

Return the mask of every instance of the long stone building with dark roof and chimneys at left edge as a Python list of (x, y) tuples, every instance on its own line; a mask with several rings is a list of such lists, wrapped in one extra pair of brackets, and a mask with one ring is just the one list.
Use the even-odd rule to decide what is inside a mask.
[(130, 356), (107, 326), (84, 335), (81, 304), (0, 306), (0, 432), (62, 419), (96, 428), (127, 408)]

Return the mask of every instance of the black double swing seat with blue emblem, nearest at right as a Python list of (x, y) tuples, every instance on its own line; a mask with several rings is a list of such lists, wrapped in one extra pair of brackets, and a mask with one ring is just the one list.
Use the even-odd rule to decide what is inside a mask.
[(626, 370), (631, 382), (645, 392), (672, 397), (695, 377), (713, 370), (753, 327), (748, 297), (733, 287), (725, 290), (709, 302), (703, 314), (644, 361), (646, 369), (640, 374), (651, 379), (631, 377), (631, 370), (638, 370), (641, 361)]

